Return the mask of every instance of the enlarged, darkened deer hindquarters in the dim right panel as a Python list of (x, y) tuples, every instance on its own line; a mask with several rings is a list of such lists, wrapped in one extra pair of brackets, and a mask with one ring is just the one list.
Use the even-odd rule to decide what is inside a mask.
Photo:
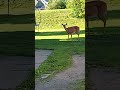
[(87, 29), (89, 30), (89, 19), (92, 17), (98, 17), (103, 21), (104, 27), (106, 27), (107, 16), (107, 4), (104, 1), (91, 1), (85, 3), (85, 21)]

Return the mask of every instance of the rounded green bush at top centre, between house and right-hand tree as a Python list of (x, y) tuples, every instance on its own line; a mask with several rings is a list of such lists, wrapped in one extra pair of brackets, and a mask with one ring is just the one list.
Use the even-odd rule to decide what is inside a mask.
[(48, 9), (65, 9), (66, 0), (49, 0)]

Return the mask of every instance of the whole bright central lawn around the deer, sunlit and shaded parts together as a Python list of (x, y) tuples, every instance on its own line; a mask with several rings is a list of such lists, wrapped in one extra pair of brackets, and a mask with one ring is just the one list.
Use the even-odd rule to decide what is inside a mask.
[[(72, 18), (70, 10), (45, 10), (41, 11), (40, 32), (35, 33), (35, 48), (50, 49), (53, 53), (36, 70), (36, 76), (43, 74), (54, 75), (72, 64), (72, 55), (84, 54), (85, 52), (85, 32), (84, 19)], [(38, 12), (36, 13), (39, 15)], [(67, 20), (66, 20), (67, 19)], [(68, 26), (78, 25), (81, 28), (80, 38), (77, 34), (72, 39), (68, 39), (62, 23)], [(81, 23), (81, 24), (80, 24)]]

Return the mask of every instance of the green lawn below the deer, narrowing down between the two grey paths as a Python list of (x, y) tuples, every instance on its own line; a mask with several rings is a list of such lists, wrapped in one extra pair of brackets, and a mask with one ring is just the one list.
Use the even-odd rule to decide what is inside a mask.
[[(49, 38), (49, 36), (48, 36)], [(52, 49), (53, 53), (36, 70), (36, 76), (46, 73), (57, 73), (72, 63), (73, 54), (82, 54), (85, 49), (84, 38), (77, 40), (42, 39), (35, 41), (36, 49)]]

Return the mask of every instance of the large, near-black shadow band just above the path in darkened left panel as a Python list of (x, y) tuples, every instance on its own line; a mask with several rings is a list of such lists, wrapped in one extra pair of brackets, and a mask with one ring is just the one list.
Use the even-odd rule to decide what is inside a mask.
[(0, 54), (34, 56), (34, 31), (0, 32)]

